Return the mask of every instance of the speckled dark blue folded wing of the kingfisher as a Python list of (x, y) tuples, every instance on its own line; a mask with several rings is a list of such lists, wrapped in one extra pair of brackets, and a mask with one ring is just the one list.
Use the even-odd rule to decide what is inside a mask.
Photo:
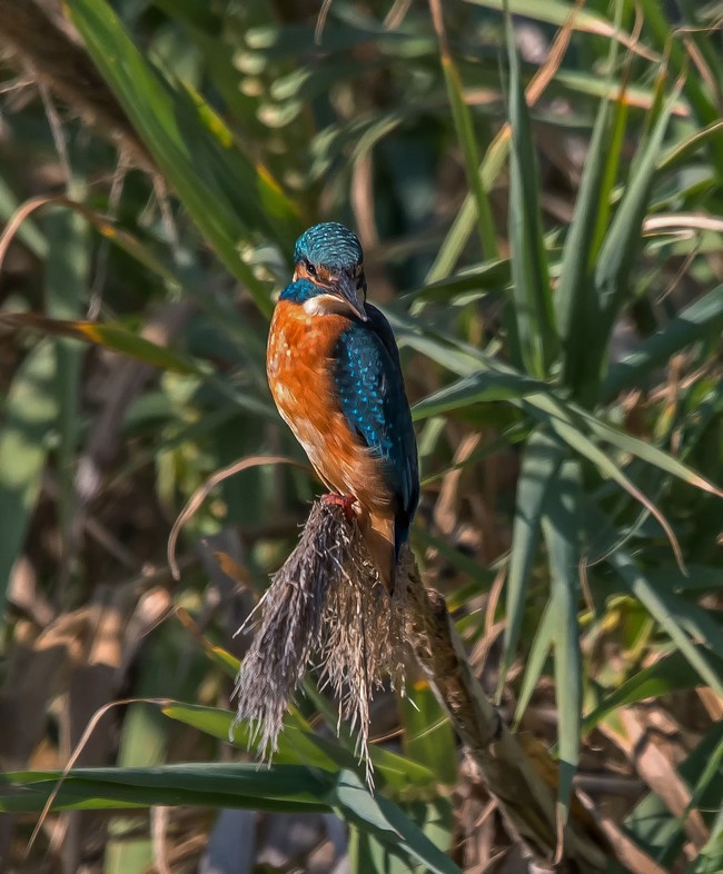
[(336, 342), (334, 383), (351, 430), (385, 463), (398, 555), (419, 500), (417, 445), (394, 334), (376, 307), (366, 309), (369, 321), (351, 321)]

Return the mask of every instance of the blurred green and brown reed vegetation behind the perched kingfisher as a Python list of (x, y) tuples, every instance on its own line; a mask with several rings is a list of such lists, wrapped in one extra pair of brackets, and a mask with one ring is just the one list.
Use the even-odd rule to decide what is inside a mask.
[[(559, 759), (561, 816), (592, 797), (610, 871), (720, 872), (720, 10), (319, 6), (4, 3), (3, 867), (526, 870), (413, 666), (375, 701), (375, 798), (311, 683), (277, 764), (232, 764), (231, 635), (319, 488), (264, 460), (305, 461), (268, 317), (336, 219), (402, 346), (413, 543), (483, 686)], [(237, 459), (175, 582), (175, 518)], [(86, 810), (26, 855), (81, 739), (102, 769), (55, 802)]]

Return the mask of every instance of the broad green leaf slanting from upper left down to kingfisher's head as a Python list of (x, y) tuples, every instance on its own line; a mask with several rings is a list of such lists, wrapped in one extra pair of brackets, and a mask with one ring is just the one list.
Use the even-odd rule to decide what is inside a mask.
[(244, 262), (239, 245), (259, 231), (288, 245), (299, 230), (295, 208), (264, 168), (226, 137), (219, 139), (210, 108), (205, 111), (189, 93), (171, 89), (105, 0), (70, 0), (68, 9), (98, 69), (185, 207), (268, 314), (268, 289)]

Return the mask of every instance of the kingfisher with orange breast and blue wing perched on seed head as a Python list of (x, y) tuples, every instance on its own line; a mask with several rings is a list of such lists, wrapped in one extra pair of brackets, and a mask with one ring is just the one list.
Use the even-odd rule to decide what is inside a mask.
[(399, 350), (366, 292), (356, 235), (336, 221), (305, 231), (271, 319), (266, 369), (281, 418), (329, 489), (323, 499), (356, 514), (392, 594), (419, 468)]

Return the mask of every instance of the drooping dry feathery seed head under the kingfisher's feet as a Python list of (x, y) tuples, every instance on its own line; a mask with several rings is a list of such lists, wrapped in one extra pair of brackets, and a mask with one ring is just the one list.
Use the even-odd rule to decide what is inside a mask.
[(385, 678), (400, 676), (400, 600), (389, 600), (368, 564), (358, 527), (339, 507), (316, 503), (259, 604), (259, 628), (236, 683), (237, 721), (249, 721), (265, 758), (314, 658), (321, 686), (339, 702), (339, 719), (357, 732), (372, 785), (369, 702)]

